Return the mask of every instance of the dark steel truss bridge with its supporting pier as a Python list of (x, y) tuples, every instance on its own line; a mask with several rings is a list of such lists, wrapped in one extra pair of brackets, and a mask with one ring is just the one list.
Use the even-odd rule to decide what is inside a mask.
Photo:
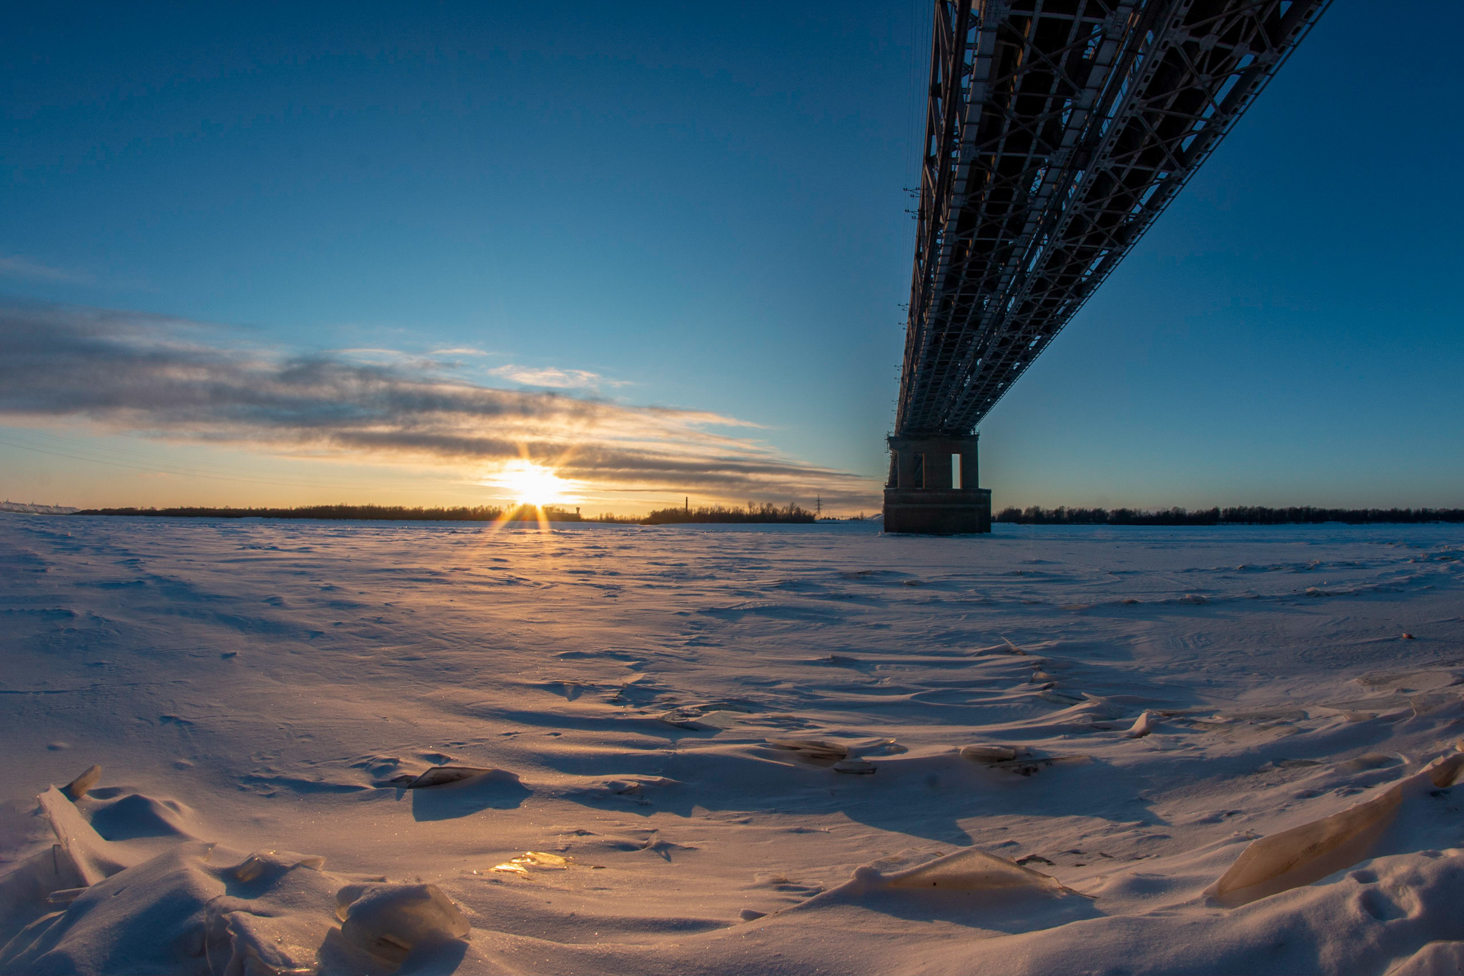
[(976, 424), (1329, 0), (937, 0), (884, 531), (991, 531)]

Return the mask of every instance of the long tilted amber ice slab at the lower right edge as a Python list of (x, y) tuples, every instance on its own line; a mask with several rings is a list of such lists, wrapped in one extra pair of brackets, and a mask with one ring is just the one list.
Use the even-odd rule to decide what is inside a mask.
[(1366, 859), (1405, 796), (1449, 786), (1461, 765), (1464, 752), (1442, 757), (1364, 803), (1252, 841), (1205, 894), (1236, 907), (1321, 881)]

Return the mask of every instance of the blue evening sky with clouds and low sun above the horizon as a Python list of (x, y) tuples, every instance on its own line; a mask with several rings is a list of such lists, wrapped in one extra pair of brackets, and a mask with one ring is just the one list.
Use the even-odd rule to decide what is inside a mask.
[[(1338, 0), (981, 426), (1006, 505), (1464, 506), (1464, 7)], [(0, 496), (875, 511), (924, 3), (29, 4)], [(549, 489), (546, 489), (549, 490)]]

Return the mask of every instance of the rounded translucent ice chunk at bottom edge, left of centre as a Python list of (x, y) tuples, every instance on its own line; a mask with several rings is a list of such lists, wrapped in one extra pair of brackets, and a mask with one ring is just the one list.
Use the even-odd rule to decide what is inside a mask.
[(346, 941), (392, 963), (417, 945), (466, 938), (470, 931), (435, 884), (348, 884), (335, 904)]

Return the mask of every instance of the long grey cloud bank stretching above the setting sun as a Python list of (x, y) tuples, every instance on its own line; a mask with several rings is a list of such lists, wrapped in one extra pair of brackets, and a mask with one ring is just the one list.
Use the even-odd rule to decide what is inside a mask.
[[(713, 413), (482, 386), (414, 357), (363, 363), (343, 354), (288, 356), (212, 337), (205, 326), (161, 316), (0, 304), (0, 416), (18, 423), (89, 420), (110, 430), (272, 452), (369, 457), (468, 477), (529, 458), (591, 492), (738, 500), (823, 495), (864, 506), (877, 493), (868, 478), (720, 433), (747, 424)], [(564, 388), (596, 376), (504, 375), (545, 386), (545, 373), (562, 378)]]

